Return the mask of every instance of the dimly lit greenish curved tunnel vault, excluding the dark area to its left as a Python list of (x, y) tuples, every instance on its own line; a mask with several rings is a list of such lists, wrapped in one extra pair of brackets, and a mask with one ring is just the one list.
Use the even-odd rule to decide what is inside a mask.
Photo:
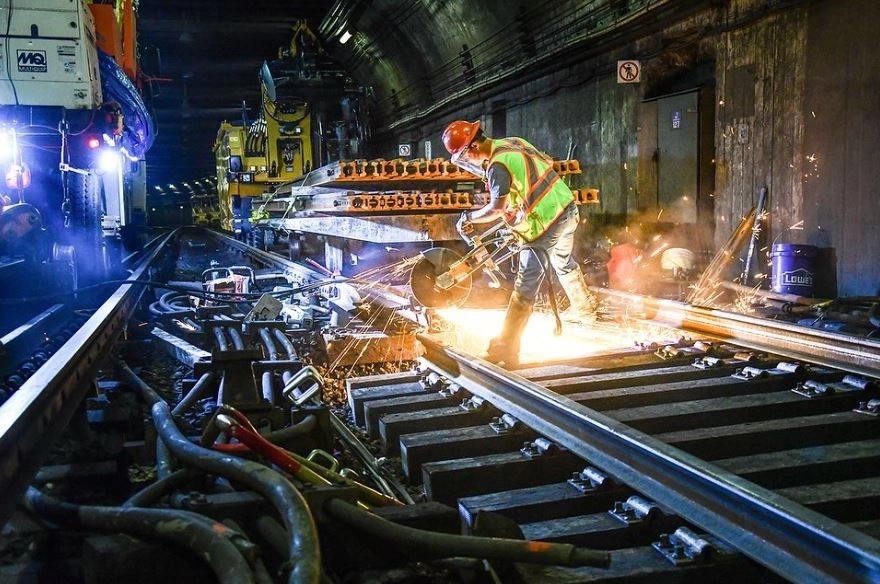
[[(696, 0), (342, 0), (326, 47), (400, 131), (657, 30)], [(339, 42), (343, 33), (352, 35)], [(382, 128), (379, 128), (381, 131)]]

